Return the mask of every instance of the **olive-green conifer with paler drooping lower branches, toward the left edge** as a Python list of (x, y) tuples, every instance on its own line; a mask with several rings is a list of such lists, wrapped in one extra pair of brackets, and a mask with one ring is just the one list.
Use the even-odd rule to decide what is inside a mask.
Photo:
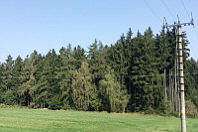
[(34, 51), (24, 60), (20, 76), (22, 84), (17, 91), (21, 105), (39, 107), (39, 104), (36, 102), (35, 91), (38, 89), (38, 81), (41, 78), (42, 59), (42, 56), (37, 51)]

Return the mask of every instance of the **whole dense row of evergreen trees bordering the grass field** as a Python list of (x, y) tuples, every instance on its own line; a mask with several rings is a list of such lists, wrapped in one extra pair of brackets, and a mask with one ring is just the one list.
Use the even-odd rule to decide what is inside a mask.
[[(0, 103), (31, 108), (108, 112), (178, 112), (174, 30), (134, 36), (131, 29), (113, 45), (95, 40), (86, 52), (69, 44), (59, 53), (9, 55), (0, 64)], [(198, 108), (198, 62), (188, 59), (183, 34), (186, 100)], [(190, 106), (189, 106), (190, 104)]]

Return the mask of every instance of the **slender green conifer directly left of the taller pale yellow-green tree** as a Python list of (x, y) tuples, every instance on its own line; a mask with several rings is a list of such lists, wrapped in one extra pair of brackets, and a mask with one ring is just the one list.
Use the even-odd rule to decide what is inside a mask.
[(75, 58), (73, 50), (69, 44), (67, 48), (61, 48), (59, 51), (59, 68), (57, 71), (57, 78), (61, 90), (61, 101), (63, 102), (64, 109), (74, 107), (71, 97), (72, 90), (72, 71), (75, 70)]

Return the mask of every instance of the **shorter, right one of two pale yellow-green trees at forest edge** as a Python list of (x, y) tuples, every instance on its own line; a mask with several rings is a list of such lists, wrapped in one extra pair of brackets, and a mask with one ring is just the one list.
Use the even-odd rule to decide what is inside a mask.
[(104, 107), (109, 112), (125, 112), (129, 95), (126, 89), (116, 80), (111, 71), (100, 81), (100, 91)]

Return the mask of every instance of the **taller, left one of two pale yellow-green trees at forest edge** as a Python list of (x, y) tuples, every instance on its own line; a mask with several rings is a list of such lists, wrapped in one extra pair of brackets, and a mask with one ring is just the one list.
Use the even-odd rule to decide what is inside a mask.
[(81, 67), (73, 71), (71, 96), (74, 107), (77, 110), (97, 110), (95, 108), (96, 95), (96, 89), (91, 83), (88, 63), (82, 62)]

